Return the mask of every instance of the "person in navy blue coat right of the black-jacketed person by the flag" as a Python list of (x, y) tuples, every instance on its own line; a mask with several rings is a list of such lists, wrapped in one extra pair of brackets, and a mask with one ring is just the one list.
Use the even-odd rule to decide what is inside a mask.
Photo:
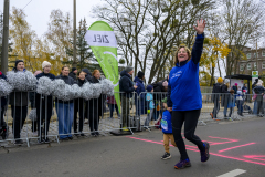
[(144, 80), (145, 80), (145, 73), (139, 71), (138, 75), (135, 77), (134, 82), (136, 86), (136, 95), (135, 95), (135, 104), (136, 104), (136, 114), (140, 115), (145, 113), (145, 85), (144, 85)]

